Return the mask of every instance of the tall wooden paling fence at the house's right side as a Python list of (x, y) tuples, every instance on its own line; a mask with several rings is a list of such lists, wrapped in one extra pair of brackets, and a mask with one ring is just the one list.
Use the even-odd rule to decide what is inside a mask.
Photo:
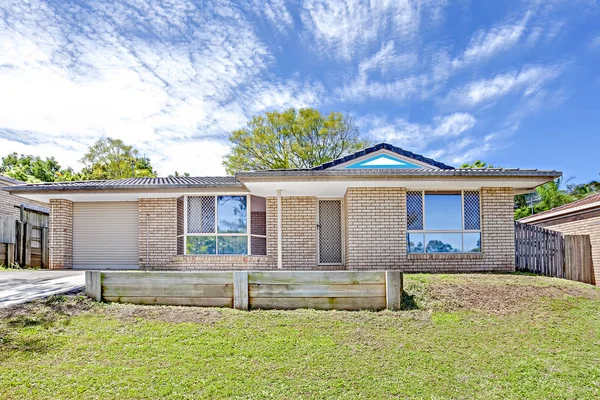
[(595, 284), (589, 235), (566, 235), (515, 222), (517, 271)]

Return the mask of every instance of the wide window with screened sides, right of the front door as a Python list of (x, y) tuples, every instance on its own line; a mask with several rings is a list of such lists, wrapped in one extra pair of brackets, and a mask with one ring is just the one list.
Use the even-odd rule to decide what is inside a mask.
[(408, 192), (409, 253), (481, 252), (479, 192)]

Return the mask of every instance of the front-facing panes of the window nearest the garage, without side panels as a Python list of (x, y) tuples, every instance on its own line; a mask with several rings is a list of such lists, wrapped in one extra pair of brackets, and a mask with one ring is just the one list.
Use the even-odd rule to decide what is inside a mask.
[(247, 196), (188, 196), (185, 254), (248, 254)]

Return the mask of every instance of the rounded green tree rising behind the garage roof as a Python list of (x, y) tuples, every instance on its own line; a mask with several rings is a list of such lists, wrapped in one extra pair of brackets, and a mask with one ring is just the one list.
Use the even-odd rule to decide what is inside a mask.
[(88, 149), (81, 162), (85, 165), (81, 171), (85, 179), (156, 176), (150, 160), (140, 156), (137, 149), (119, 139), (99, 139)]

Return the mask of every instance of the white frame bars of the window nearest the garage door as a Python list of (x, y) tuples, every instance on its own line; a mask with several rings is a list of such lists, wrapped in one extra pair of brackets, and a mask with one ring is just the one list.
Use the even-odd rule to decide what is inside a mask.
[[(235, 197), (244, 197), (246, 199), (246, 232), (245, 233), (219, 233), (219, 196), (235, 196)], [(215, 201), (215, 231), (214, 232), (201, 232), (201, 233), (188, 233), (188, 198), (189, 197), (213, 197)], [(252, 202), (251, 195), (248, 193), (197, 193), (183, 196), (183, 234), (177, 235), (178, 238), (183, 237), (183, 255), (191, 255), (191, 256), (249, 256), (252, 255), (252, 248), (250, 243), (250, 238), (252, 236), (264, 237), (266, 235), (253, 235), (251, 234), (251, 214), (252, 214)], [(215, 253), (214, 254), (188, 254), (187, 252), (187, 237), (188, 236), (211, 236), (215, 237)], [(219, 237), (220, 236), (236, 236), (246, 237), (246, 253), (244, 254), (219, 254)]]

